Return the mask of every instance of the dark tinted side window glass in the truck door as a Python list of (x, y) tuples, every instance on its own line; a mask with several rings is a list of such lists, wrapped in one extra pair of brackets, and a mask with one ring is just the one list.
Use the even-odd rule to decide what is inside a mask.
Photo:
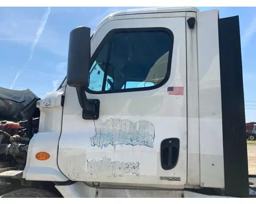
[(169, 77), (172, 49), (169, 30), (114, 30), (92, 58), (89, 89), (102, 93), (159, 87)]

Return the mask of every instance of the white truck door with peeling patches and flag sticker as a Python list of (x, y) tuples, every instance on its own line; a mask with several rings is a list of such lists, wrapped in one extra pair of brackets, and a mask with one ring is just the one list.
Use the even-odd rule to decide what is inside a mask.
[[(162, 87), (153, 90), (87, 93), (88, 98), (100, 100), (100, 118), (96, 121), (82, 119), (76, 91), (67, 86), (58, 165), (70, 180), (119, 185), (160, 185), (170, 188), (184, 186), (187, 174), (185, 23), (185, 17), (122, 19), (106, 22), (98, 29), (91, 42), (91, 54), (113, 29), (163, 27), (171, 30), (174, 34), (171, 73)], [(168, 95), (167, 87), (173, 86), (183, 86), (184, 95)], [(133, 124), (147, 121), (150, 124), (147, 127), (155, 132), (154, 145), (148, 147), (123, 144), (102, 148), (91, 145), (91, 138), (96, 131), (95, 124), (112, 119), (130, 120)], [(180, 140), (179, 160), (171, 170), (162, 169), (160, 161), (160, 144), (166, 138)], [(132, 164), (136, 173), (114, 176), (113, 171), (118, 171), (113, 169), (114, 164)], [(160, 176), (180, 177), (180, 181), (160, 180)]]

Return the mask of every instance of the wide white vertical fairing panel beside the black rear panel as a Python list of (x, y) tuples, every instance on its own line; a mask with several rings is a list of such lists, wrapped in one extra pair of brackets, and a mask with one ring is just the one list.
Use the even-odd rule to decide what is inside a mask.
[(198, 13), (200, 182), (224, 188), (218, 10)]

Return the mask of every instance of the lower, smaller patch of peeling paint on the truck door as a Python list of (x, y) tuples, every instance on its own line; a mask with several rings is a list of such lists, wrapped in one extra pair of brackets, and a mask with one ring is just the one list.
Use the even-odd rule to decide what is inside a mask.
[(139, 162), (112, 162), (109, 158), (101, 160), (87, 160), (87, 171), (90, 175), (104, 175), (106, 177), (136, 174), (139, 176)]

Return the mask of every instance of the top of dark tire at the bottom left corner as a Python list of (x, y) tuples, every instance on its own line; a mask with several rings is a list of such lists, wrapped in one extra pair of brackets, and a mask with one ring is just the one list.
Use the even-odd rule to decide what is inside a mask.
[(50, 191), (37, 188), (24, 188), (6, 193), (1, 198), (57, 198), (58, 196)]

